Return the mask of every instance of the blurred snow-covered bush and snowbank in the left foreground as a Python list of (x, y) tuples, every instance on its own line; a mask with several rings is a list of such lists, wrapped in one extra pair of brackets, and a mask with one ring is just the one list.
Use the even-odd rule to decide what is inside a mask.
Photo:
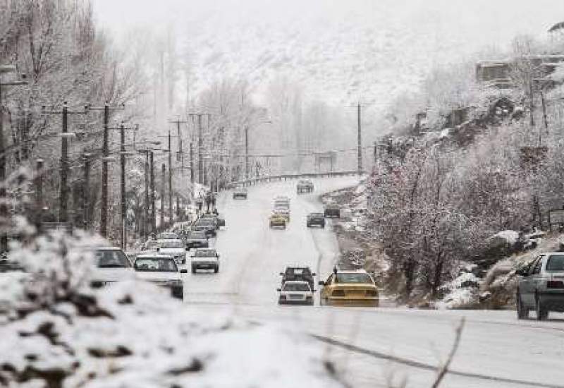
[(190, 308), (145, 282), (91, 289), (93, 243), (38, 238), (12, 257), (31, 272), (0, 283), (0, 387), (343, 387), (304, 334)]

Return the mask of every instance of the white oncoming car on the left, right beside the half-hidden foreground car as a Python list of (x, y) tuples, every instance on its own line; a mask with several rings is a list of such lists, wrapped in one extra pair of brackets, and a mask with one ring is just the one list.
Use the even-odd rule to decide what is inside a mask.
[(179, 271), (172, 257), (158, 253), (145, 253), (137, 256), (133, 268), (135, 268), (137, 279), (151, 281), (171, 289), (171, 295), (174, 298), (184, 298), (184, 281), (181, 274), (185, 274), (186, 269)]

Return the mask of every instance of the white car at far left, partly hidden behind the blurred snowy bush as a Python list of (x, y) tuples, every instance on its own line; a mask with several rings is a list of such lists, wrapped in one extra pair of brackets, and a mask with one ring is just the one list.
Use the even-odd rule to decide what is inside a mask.
[(133, 279), (133, 265), (121, 248), (95, 248), (94, 257), (96, 269), (92, 274), (93, 287), (99, 288), (116, 281)]

